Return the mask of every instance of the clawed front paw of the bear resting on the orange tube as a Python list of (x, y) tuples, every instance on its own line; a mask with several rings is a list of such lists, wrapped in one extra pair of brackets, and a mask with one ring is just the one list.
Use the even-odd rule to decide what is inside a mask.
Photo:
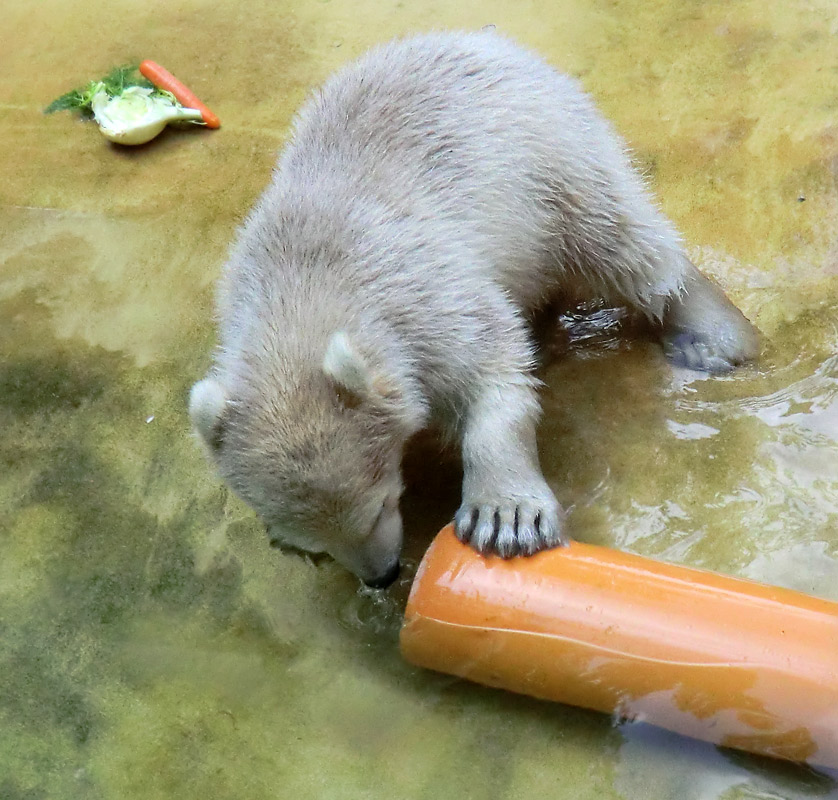
[(519, 498), (500, 502), (464, 502), (454, 515), (457, 538), (483, 555), (502, 558), (531, 556), (567, 544), (563, 514), (549, 498)]

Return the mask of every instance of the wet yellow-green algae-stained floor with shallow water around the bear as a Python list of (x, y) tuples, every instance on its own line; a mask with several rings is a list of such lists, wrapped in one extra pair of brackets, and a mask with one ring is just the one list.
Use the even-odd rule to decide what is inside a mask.
[[(836, 775), (409, 667), (409, 575), (370, 593), (270, 549), (190, 437), (212, 284), (305, 92), (392, 35), (487, 23), (580, 77), (765, 337), (707, 379), (607, 310), (566, 318), (541, 443), (572, 534), (838, 600), (834, 3), (7, 0), (4, 800), (838, 798)], [(124, 151), (41, 115), (142, 57), (224, 127)], [(408, 474), (415, 566), (457, 473), (428, 449)]]

